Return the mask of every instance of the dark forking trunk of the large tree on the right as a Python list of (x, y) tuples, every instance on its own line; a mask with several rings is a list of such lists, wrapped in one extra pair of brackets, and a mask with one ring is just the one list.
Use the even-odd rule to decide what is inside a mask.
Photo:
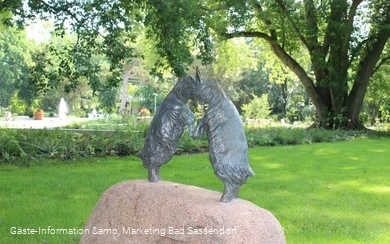
[[(339, 23), (342, 23), (343, 19), (348, 19), (347, 27), (351, 27), (353, 16), (360, 2), (359, 0), (352, 4), (348, 18), (342, 16), (346, 9), (340, 11), (337, 7), (332, 10), (334, 12), (330, 18)], [(384, 23), (386, 22), (390, 22), (390, 20), (387, 18)], [(340, 34), (338, 29), (332, 29), (331, 25), (328, 28), (329, 38), (324, 41), (322, 47), (319, 47), (315, 40), (310, 43), (310, 40), (305, 40), (313, 64), (315, 83), (309, 78), (306, 71), (280, 45), (275, 43), (274, 39), (269, 39), (268, 42), (275, 55), (298, 76), (304, 85), (316, 108), (317, 122), (315, 126), (328, 129), (362, 129), (364, 126), (360, 121), (359, 114), (364, 96), (370, 77), (390, 37), (390, 32), (386, 28), (381, 28), (376, 30), (377, 33), (370, 35), (373, 41), (370, 43), (371, 45), (368, 45), (368, 50), (362, 53), (352, 89), (348, 94), (348, 43), (351, 29), (347, 28), (346, 32)], [(321, 50), (322, 55), (319, 54)], [(318, 63), (325, 62), (326, 55), (328, 55), (327, 68), (324, 68)]]

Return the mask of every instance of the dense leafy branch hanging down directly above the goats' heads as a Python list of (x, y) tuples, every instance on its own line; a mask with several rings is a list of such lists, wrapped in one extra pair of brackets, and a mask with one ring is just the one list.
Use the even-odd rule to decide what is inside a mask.
[(196, 1), (146, 1), (143, 7), (147, 37), (156, 41), (176, 76), (186, 74), (193, 50), (204, 64), (212, 61), (210, 30), (199, 19)]

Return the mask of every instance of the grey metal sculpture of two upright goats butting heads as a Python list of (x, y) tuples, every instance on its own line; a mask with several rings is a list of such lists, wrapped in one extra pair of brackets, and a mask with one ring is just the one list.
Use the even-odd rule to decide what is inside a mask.
[[(187, 103), (190, 99), (208, 105), (204, 117), (197, 122)], [(148, 180), (161, 180), (160, 167), (173, 157), (186, 126), (193, 138), (207, 133), (210, 162), (215, 175), (224, 183), (220, 201), (237, 199), (241, 185), (254, 176), (242, 122), (219, 84), (201, 81), (199, 69), (195, 78), (185, 76), (176, 83), (153, 117), (144, 147), (137, 154), (148, 169)]]

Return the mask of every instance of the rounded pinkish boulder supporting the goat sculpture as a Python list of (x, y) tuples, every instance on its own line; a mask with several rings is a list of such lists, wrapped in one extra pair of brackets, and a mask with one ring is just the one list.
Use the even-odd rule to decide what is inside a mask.
[(245, 200), (161, 181), (124, 181), (100, 197), (81, 243), (286, 243), (278, 220)]

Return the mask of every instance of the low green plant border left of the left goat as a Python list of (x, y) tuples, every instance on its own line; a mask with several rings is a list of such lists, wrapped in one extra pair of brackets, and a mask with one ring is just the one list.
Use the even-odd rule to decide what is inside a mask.
[(28, 164), (39, 158), (72, 159), (129, 155), (142, 146), (142, 132), (82, 134), (58, 130), (1, 129), (0, 134), (3, 159), (17, 164)]

